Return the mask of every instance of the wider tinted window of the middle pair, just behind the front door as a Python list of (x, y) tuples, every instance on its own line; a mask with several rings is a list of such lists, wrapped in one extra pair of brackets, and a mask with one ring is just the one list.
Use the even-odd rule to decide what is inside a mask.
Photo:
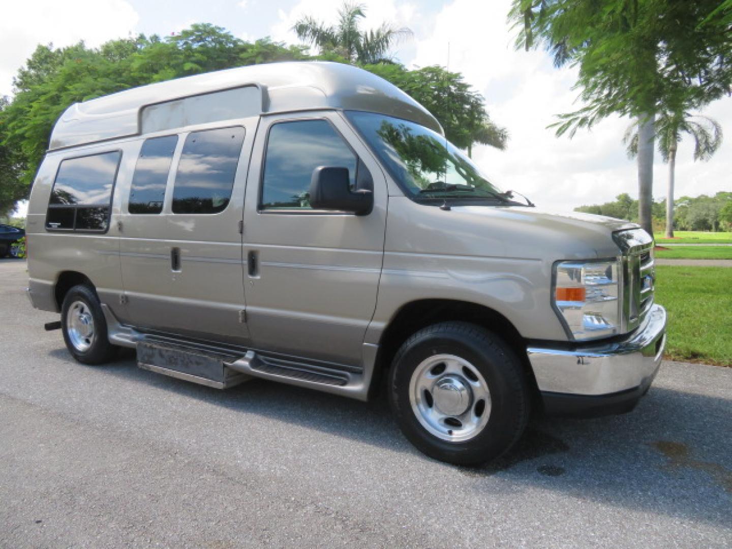
[(243, 127), (188, 134), (173, 187), (174, 214), (217, 214), (231, 198)]

